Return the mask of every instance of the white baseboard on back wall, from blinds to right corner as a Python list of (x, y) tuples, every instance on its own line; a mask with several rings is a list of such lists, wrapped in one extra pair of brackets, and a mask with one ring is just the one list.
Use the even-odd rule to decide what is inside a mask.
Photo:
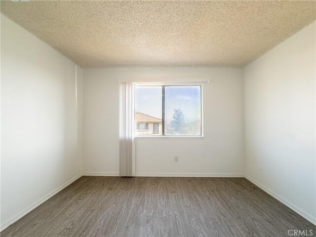
[(244, 177), (243, 174), (226, 173), (136, 173), (138, 177)]

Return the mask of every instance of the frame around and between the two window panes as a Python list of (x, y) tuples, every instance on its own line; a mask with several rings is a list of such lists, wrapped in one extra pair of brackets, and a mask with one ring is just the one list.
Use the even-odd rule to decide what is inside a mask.
[[(161, 126), (161, 132), (162, 134), (134, 134), (135, 138), (203, 138), (204, 134), (203, 134), (203, 83), (148, 83), (148, 82), (137, 82), (135, 83), (135, 87), (134, 87), (134, 94), (136, 93), (136, 87), (140, 87), (140, 86), (161, 86), (162, 88), (162, 126)], [(165, 94), (164, 94), (164, 87), (165, 86), (199, 86), (200, 87), (200, 134), (198, 135), (166, 135), (164, 133), (164, 122), (165, 122), (165, 115), (164, 115), (164, 110), (165, 110)], [(135, 101), (134, 101), (135, 103)], [(134, 106), (135, 107), (135, 106)], [(134, 111), (134, 116), (135, 116), (135, 111)]]

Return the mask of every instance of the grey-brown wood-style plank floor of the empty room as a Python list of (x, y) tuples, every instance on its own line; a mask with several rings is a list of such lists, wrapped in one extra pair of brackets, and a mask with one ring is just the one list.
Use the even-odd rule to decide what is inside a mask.
[(316, 235), (312, 223), (245, 178), (83, 176), (0, 234), (286, 237), (288, 230)]

